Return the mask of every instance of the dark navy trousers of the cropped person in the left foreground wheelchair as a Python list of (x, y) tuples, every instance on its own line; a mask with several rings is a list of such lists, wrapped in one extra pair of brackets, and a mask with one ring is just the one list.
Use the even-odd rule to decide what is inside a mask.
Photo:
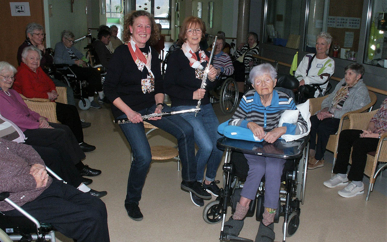
[[(50, 223), (63, 235), (79, 242), (109, 242), (106, 206), (99, 198), (53, 179), (34, 201), (21, 206), (39, 222)], [(16, 209), (3, 212), (20, 216)]]

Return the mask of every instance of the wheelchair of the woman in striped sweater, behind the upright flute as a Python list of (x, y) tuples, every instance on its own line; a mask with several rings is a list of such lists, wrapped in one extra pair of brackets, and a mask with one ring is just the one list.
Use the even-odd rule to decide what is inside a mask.
[[(210, 103), (220, 103), (223, 114), (233, 113), (238, 107), (239, 89), (233, 76), (220, 74), (216, 79), (217, 87), (210, 92)], [(213, 92), (217, 93), (217, 96)]]

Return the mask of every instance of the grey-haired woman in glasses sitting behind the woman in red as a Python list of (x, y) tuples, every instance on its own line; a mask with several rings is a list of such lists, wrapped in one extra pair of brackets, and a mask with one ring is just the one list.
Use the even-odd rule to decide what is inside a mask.
[(17, 63), (20, 65), (22, 62), (22, 52), (27, 46), (33, 45), (42, 51), (42, 58), (40, 61), (40, 66), (44, 67), (45, 64), (53, 64), (53, 58), (50, 55), (49, 51), (46, 51), (43, 41), (46, 34), (44, 33), (43, 26), (37, 23), (29, 23), (26, 27), (26, 40), (19, 46), (17, 49)]

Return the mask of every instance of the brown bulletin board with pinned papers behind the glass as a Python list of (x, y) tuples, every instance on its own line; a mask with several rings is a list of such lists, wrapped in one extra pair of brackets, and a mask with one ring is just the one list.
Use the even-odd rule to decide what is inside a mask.
[[(335, 43), (340, 48), (358, 51), (362, 13), (363, 0), (329, 1), (327, 31), (333, 38), (332, 44), (330, 45), (330, 56), (332, 56), (332, 47)], [(344, 47), (344, 45), (347, 47)]]

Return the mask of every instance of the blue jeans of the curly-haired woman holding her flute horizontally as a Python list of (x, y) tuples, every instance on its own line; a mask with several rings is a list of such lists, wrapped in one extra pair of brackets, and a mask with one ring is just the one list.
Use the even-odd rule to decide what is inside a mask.
[[(155, 108), (156, 105), (153, 105), (150, 108), (139, 111), (139, 113), (141, 115), (150, 114), (154, 112)], [(165, 105), (163, 112), (170, 111), (172, 111), (171, 108)], [(126, 118), (126, 115), (124, 114), (117, 118)], [(147, 122), (176, 137), (179, 157), (182, 162), (182, 179), (187, 182), (195, 181), (197, 165), (194, 159), (195, 143), (192, 126), (179, 115), (163, 117), (156, 121), (147, 120)], [(141, 199), (141, 192), (145, 183), (146, 174), (152, 161), (151, 148), (147, 137), (145, 136), (143, 123), (128, 123), (120, 124), (119, 126), (128, 140), (133, 154), (125, 204), (138, 204)]]

